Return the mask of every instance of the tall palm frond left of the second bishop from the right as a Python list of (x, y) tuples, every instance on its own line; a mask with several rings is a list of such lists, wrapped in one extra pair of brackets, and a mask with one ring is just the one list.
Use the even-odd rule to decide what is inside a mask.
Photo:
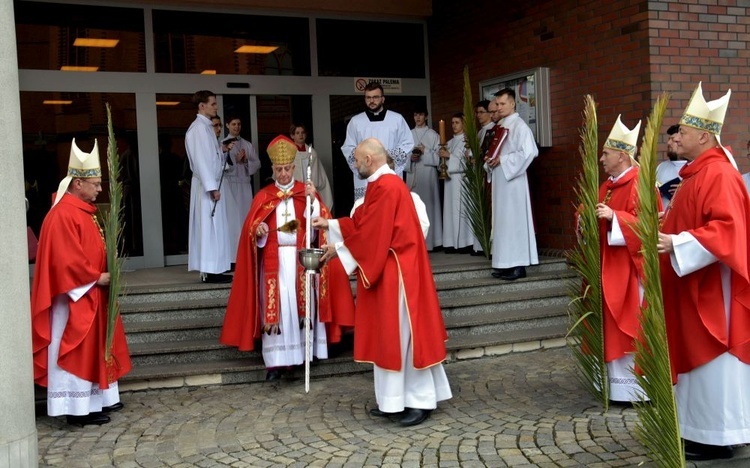
[(599, 221), (596, 217), (596, 204), (599, 202), (598, 131), (596, 102), (592, 96), (586, 95), (579, 147), (583, 171), (575, 190), (579, 236), (576, 248), (567, 253), (569, 263), (579, 276), (570, 282), (568, 288), (571, 297), (568, 341), (578, 364), (579, 372), (576, 375), (606, 411), (609, 407), (609, 386), (604, 361), (601, 257)]

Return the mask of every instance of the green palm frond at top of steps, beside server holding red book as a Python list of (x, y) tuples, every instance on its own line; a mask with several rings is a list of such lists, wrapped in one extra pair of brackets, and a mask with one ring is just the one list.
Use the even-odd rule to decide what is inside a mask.
[(466, 148), (472, 158), (464, 159), (464, 185), (461, 189), (461, 201), (466, 207), (469, 227), (489, 258), (492, 248), (492, 212), (487, 193), (484, 170), (484, 154), (480, 148), (477, 126), (474, 123), (474, 100), (471, 96), (469, 67), (464, 67), (464, 136)]

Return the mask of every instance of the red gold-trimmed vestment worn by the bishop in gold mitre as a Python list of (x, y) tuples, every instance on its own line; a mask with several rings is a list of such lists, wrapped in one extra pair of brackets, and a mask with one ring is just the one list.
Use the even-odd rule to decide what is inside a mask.
[[(316, 195), (320, 203), (321, 216), (330, 218), (328, 208)], [(260, 338), (261, 296), (265, 294), (263, 323), (279, 323), (279, 244), (275, 229), (276, 207), (285, 199), (294, 203), (294, 211), (300, 222), (297, 228), (297, 249), (305, 248), (304, 212), (306, 208), (305, 184), (296, 182), (291, 193), (285, 194), (275, 184), (262, 188), (250, 205), (240, 233), (237, 247), (237, 264), (229, 293), (227, 312), (219, 341), (235, 346), (240, 351), (252, 351), (255, 340)], [(261, 222), (265, 222), (270, 233), (263, 248), (258, 248), (255, 233)], [(260, 262), (262, 260), (262, 266)], [(265, 285), (260, 287), (261, 282)], [(297, 264), (297, 304), (300, 316), (305, 315), (305, 270)], [(354, 299), (349, 276), (341, 262), (336, 260), (324, 265), (320, 271), (318, 316), (325, 323), (329, 343), (340, 341), (342, 327), (354, 325)], [(284, 333), (284, 330), (281, 330)]]

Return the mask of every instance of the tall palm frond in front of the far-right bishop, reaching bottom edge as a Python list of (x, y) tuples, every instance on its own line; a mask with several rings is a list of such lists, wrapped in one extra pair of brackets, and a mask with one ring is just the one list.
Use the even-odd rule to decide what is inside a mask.
[(636, 340), (635, 367), (638, 383), (646, 392), (648, 403), (636, 405), (640, 424), (636, 437), (649, 451), (657, 465), (684, 467), (685, 456), (677, 421), (677, 404), (672, 389), (664, 304), (661, 295), (659, 254), (656, 250), (659, 232), (656, 187), (656, 149), (659, 130), (669, 96), (656, 100), (648, 118), (641, 145), (638, 178), (638, 223), (636, 232), (642, 243), (643, 299), (641, 337)]

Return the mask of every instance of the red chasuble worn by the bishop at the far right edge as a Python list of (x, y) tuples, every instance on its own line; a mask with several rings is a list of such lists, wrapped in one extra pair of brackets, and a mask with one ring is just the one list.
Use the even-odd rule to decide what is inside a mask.
[(680, 171), (662, 232), (687, 231), (731, 270), (729, 324), (720, 266), (712, 263), (679, 278), (661, 256), (664, 313), (673, 378), (729, 352), (750, 364), (750, 200), (739, 172), (720, 148), (702, 153)]

